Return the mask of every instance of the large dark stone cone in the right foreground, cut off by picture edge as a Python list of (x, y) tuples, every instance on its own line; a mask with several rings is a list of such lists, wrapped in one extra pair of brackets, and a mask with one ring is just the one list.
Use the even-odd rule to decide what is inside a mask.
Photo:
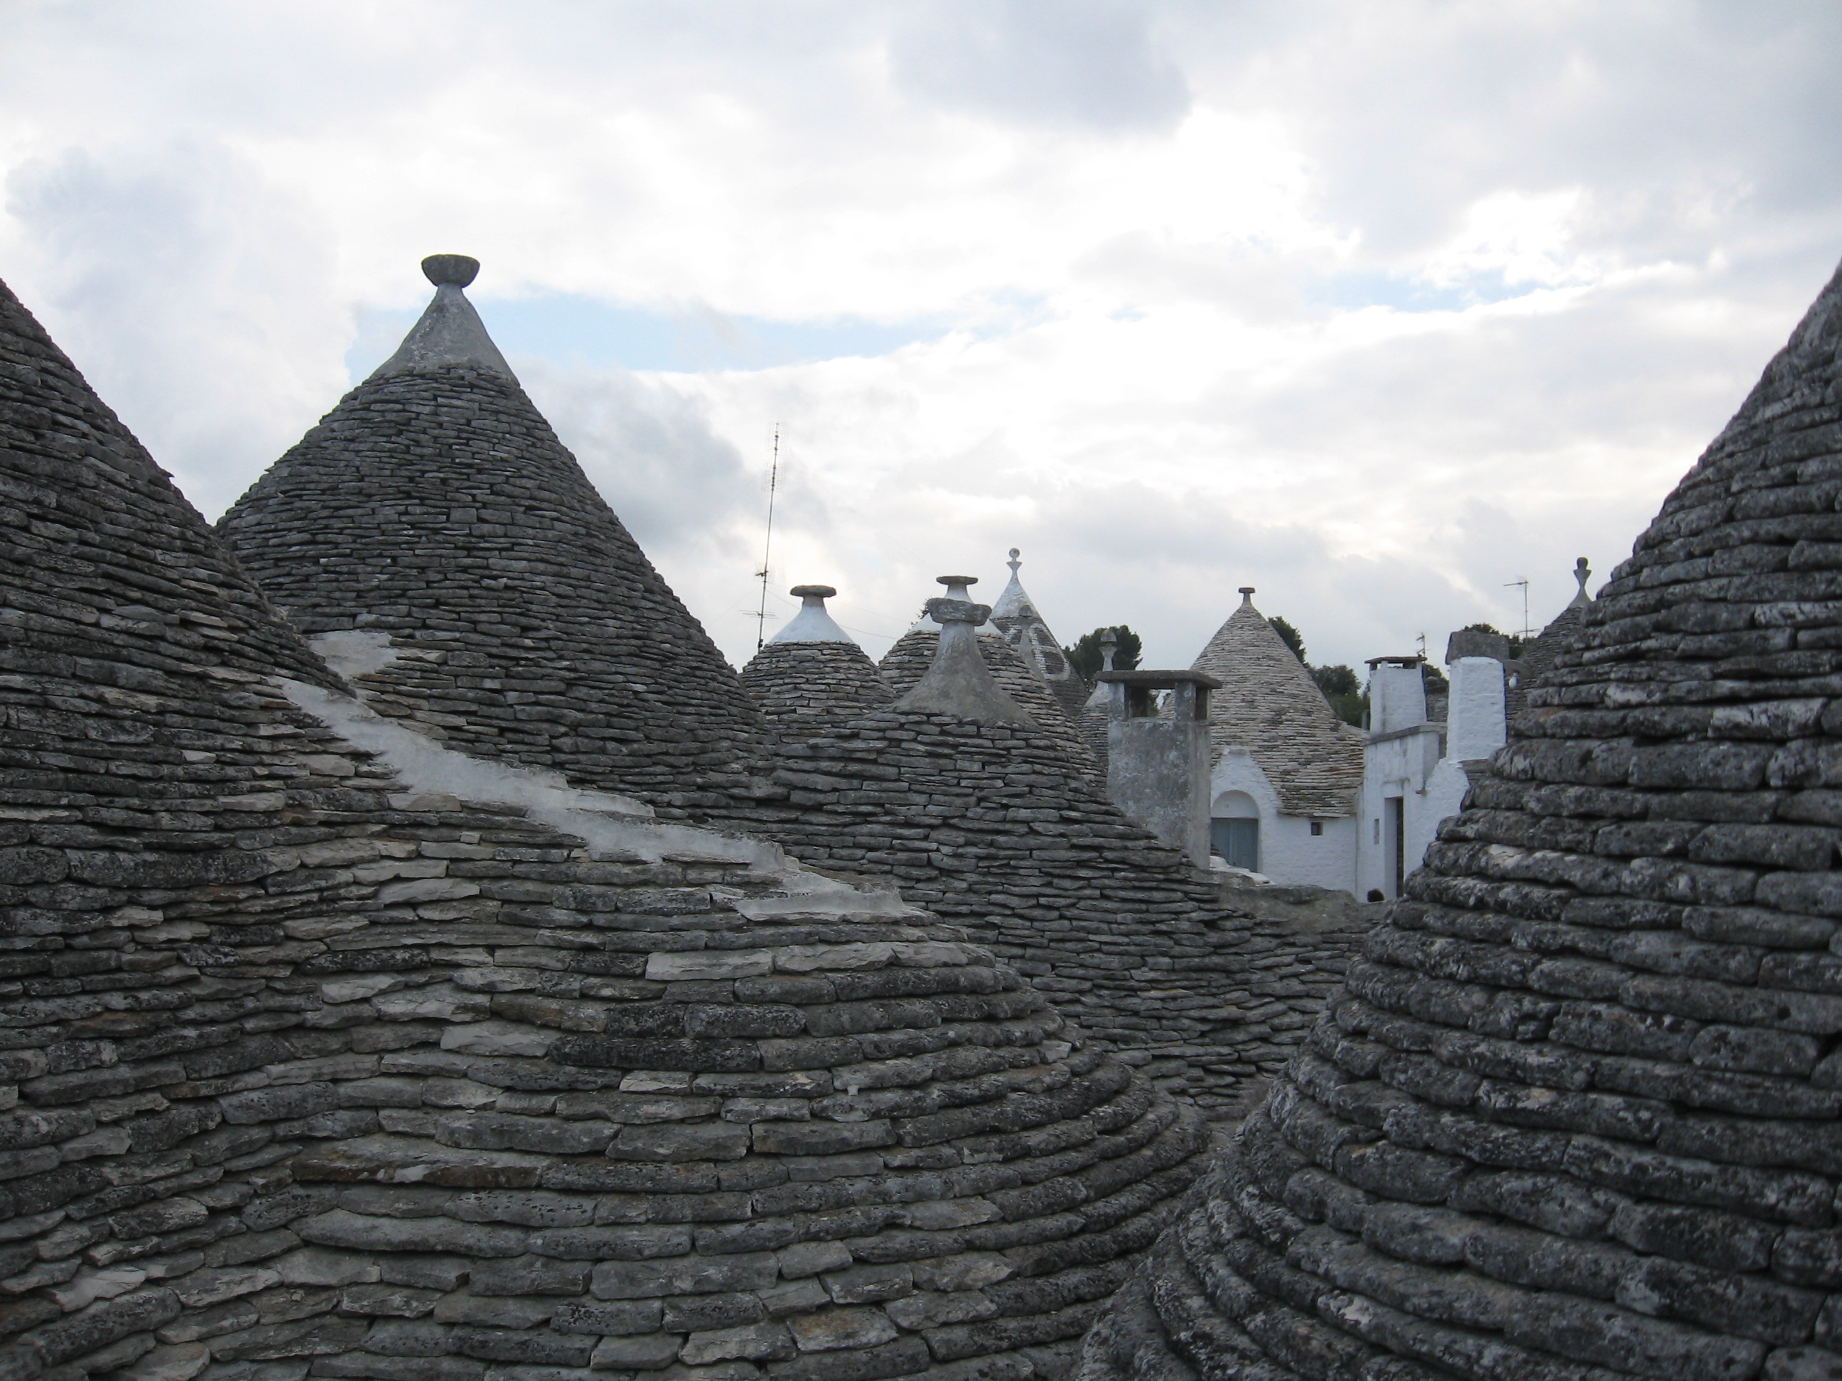
[(1105, 1377), (1842, 1370), (1842, 280), (1665, 501)]

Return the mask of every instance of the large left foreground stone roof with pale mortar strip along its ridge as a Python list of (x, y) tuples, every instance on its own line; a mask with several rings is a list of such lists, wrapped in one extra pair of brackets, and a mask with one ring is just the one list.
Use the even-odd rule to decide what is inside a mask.
[(4, 287), (0, 495), (0, 1375), (1059, 1375), (1197, 1129), (1013, 969), (354, 700)]

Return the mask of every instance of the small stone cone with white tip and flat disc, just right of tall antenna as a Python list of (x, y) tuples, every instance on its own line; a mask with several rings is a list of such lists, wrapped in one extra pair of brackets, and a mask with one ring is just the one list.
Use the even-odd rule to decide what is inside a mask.
[(768, 731), (803, 742), (895, 700), (869, 654), (825, 613), (838, 591), (794, 586), (790, 593), (803, 600), (799, 613), (742, 668), (742, 687)]

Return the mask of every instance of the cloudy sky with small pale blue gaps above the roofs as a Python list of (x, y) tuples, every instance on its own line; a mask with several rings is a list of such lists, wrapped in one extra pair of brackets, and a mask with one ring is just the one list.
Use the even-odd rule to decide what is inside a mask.
[[(0, 276), (216, 517), (416, 263), (733, 659), (1020, 547), (1315, 661), (1628, 554), (1842, 256), (1842, 7), (0, 0)], [(772, 630), (772, 624), (770, 624)]]

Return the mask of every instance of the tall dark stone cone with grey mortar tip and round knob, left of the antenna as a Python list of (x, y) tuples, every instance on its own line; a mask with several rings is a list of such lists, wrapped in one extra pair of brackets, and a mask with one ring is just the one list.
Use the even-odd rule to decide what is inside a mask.
[(460, 285), (219, 532), (378, 713), (672, 808), (755, 751), (735, 672), (556, 440)]

